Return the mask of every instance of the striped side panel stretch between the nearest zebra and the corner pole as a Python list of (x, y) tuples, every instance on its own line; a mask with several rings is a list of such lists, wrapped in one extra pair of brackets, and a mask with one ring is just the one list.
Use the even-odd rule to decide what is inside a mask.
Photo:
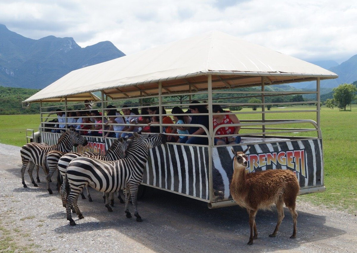
[(150, 149), (142, 182), (209, 199), (208, 148), (166, 144)]

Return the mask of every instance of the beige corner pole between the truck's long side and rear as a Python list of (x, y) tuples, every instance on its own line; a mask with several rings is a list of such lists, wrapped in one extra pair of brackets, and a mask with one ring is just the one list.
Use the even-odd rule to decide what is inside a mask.
[[(210, 189), (210, 201), (213, 201), (213, 175), (212, 175), (212, 146), (214, 145), (213, 141), (213, 111), (212, 111), (212, 75), (207, 76), (207, 88), (208, 88), (208, 181)], [(191, 91), (190, 91), (191, 92)], [(191, 101), (190, 101), (191, 103)]]

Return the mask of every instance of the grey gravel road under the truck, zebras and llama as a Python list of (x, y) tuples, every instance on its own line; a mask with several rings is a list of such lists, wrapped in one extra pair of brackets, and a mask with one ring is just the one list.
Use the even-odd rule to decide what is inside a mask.
[(0, 144), (0, 252), (357, 252), (355, 215), (302, 201), (297, 204), (296, 239), (289, 238), (293, 226), (286, 208), (277, 237), (268, 237), (277, 219), (272, 208), (258, 212), (258, 239), (251, 246), (246, 245), (244, 209), (208, 209), (198, 200), (160, 190), (139, 200), (143, 222), (138, 223), (125, 217), (118, 201), (109, 213), (101, 194), (91, 189), (94, 202), (78, 201), (85, 218), (74, 214), (77, 225), (70, 226), (55, 184), (49, 195), (43, 172), (39, 187), (33, 187), (27, 172), (29, 188), (22, 187), (19, 150)]

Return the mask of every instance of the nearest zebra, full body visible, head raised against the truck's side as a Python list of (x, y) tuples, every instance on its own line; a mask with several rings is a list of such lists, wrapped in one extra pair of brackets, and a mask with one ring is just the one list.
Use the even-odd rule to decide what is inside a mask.
[(67, 187), (70, 193), (66, 199), (67, 220), (70, 225), (76, 225), (71, 215), (71, 205), (80, 219), (84, 218), (77, 206), (79, 193), (86, 186), (100, 192), (117, 192), (125, 190), (125, 213), (131, 218), (129, 212), (129, 193), (137, 222), (142, 219), (137, 212), (137, 192), (142, 182), (144, 169), (146, 167), (149, 149), (166, 143), (164, 134), (142, 134), (134, 133), (136, 137), (131, 140), (125, 151), (125, 158), (117, 161), (102, 161), (89, 157), (73, 159), (67, 167)]

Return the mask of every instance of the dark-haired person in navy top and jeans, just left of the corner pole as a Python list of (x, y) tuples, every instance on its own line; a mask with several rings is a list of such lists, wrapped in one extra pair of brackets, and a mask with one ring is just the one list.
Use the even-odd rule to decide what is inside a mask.
[[(189, 106), (191, 113), (192, 113), (191, 124), (200, 124), (200, 125), (205, 126), (208, 129), (209, 128), (208, 115), (195, 115), (198, 113), (208, 113), (206, 105), (200, 105), (200, 102), (198, 102), (198, 101), (192, 101), (191, 104), (193, 104), (193, 105)], [(190, 134), (206, 135), (206, 131), (200, 127), (190, 127), (188, 132)], [(185, 136), (182, 139), (180, 139), (180, 143), (207, 145), (208, 138)]]

